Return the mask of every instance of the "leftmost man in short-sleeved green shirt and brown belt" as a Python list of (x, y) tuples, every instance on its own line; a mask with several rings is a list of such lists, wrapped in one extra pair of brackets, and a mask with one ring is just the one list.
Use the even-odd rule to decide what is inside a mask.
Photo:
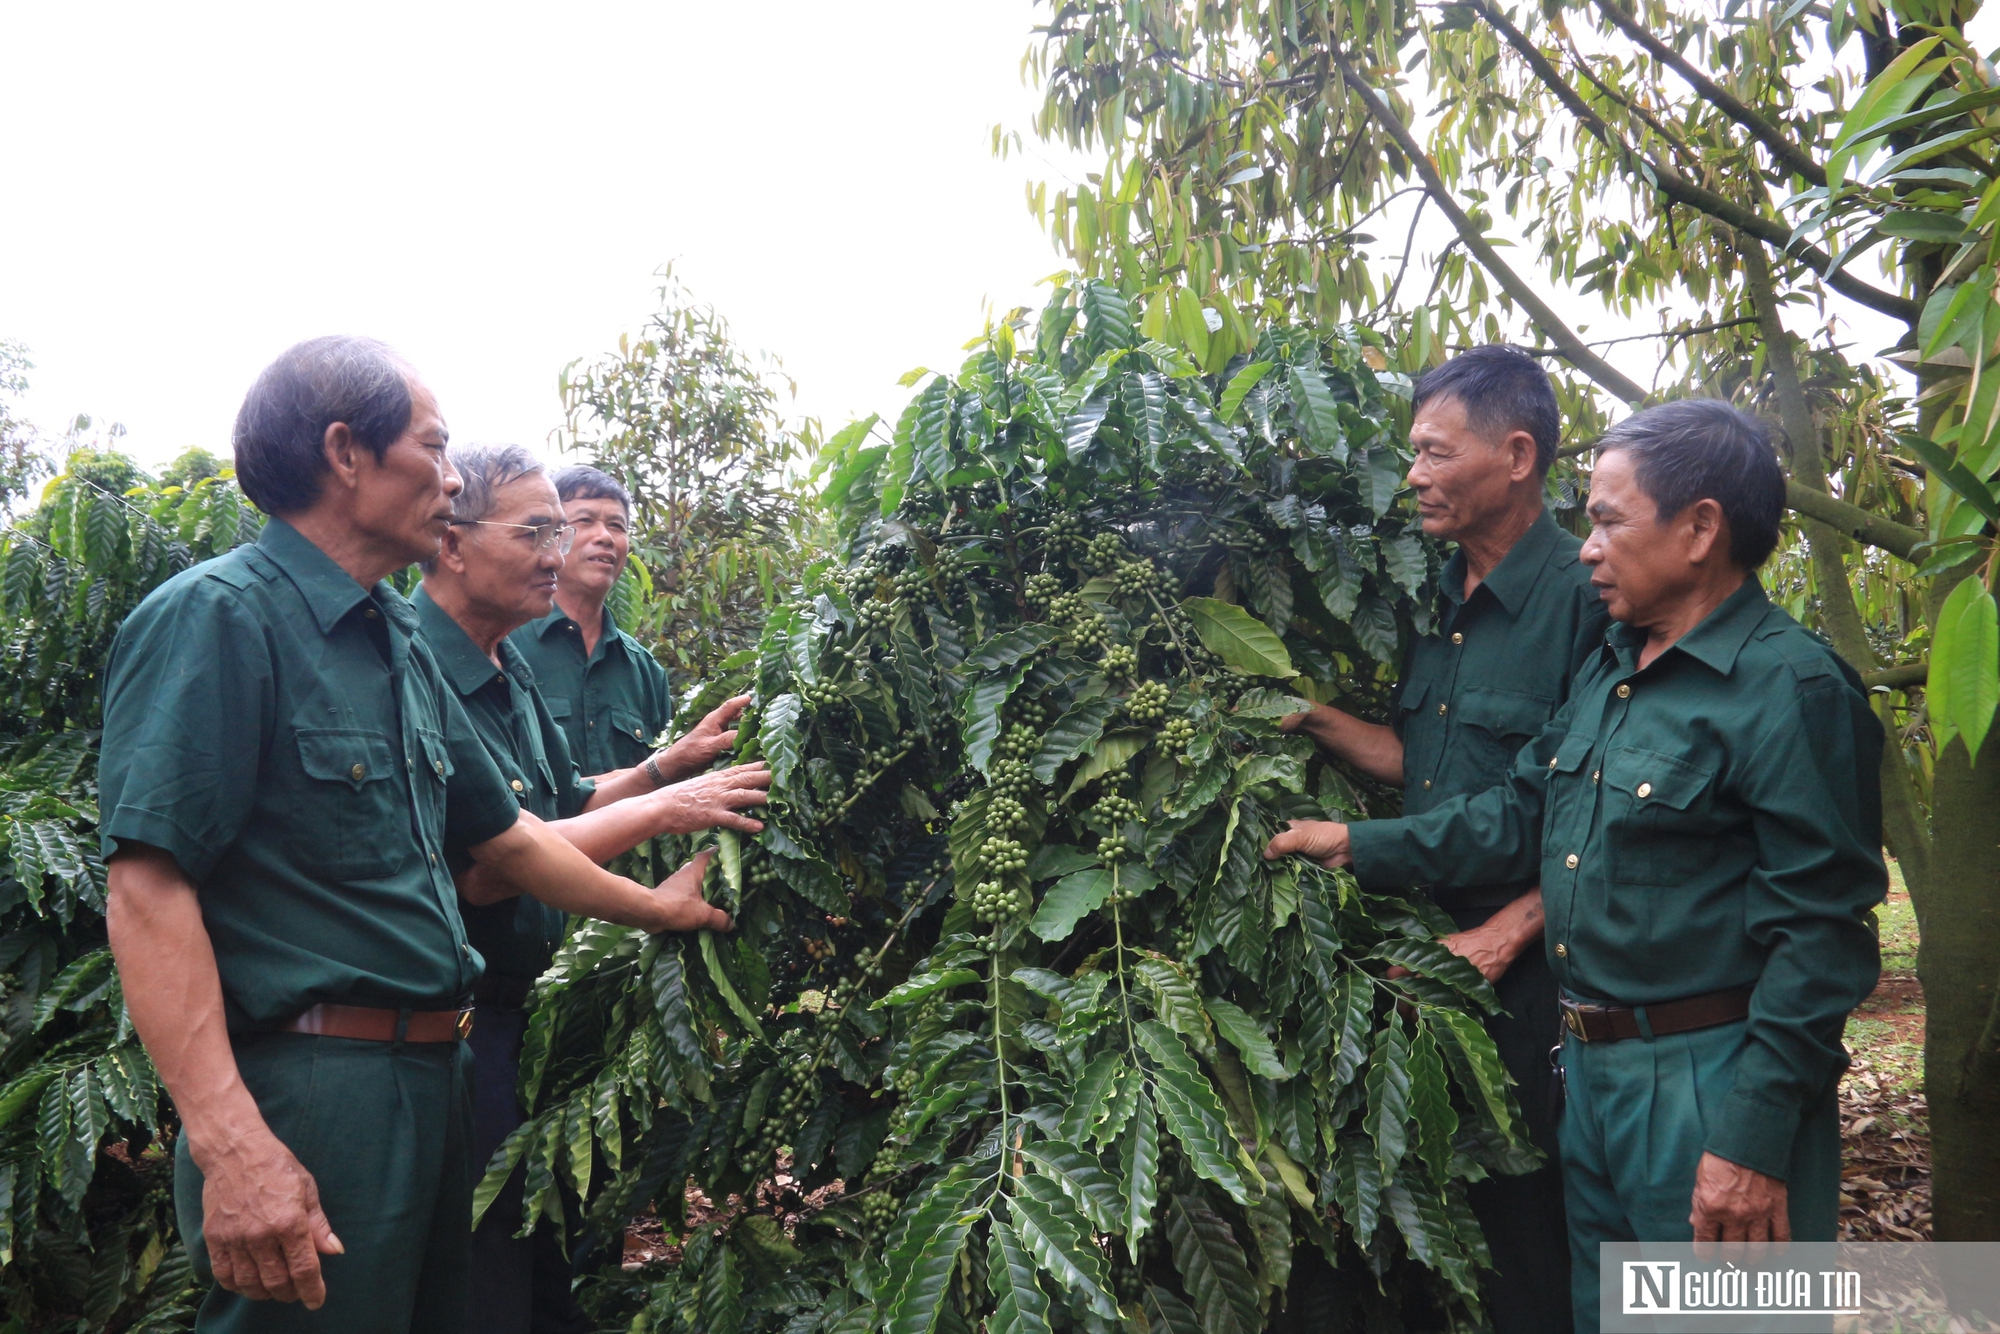
[(448, 862), (648, 930), (722, 928), (522, 816), (382, 582), (458, 476), (376, 342), (304, 342), (236, 420), (262, 538), (126, 620), (100, 768), (110, 940), (182, 1134), (198, 1330), (460, 1330), (480, 958)]

